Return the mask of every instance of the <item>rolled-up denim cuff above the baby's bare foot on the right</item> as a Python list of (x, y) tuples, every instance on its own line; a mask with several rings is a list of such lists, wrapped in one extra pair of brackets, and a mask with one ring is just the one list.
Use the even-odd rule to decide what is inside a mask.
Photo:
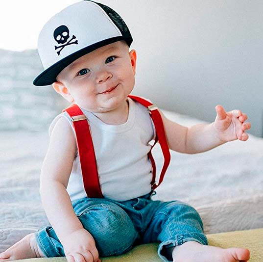
[(175, 239), (169, 239), (160, 243), (158, 246), (158, 255), (163, 261), (172, 262), (171, 254), (167, 254), (165, 251), (189, 241), (195, 241), (202, 245), (208, 245), (207, 238), (204, 234), (186, 233), (184, 235), (177, 236)]

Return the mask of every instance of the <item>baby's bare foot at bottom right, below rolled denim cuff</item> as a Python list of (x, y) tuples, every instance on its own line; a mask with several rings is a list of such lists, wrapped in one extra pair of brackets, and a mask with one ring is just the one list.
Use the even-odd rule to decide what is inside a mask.
[(249, 250), (244, 248), (219, 248), (201, 245), (195, 241), (185, 242), (172, 251), (174, 262), (247, 262)]

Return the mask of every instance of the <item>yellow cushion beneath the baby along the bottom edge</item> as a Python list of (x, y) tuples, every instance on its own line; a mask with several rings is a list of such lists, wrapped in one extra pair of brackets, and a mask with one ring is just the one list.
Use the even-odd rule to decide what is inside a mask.
[[(263, 228), (207, 235), (210, 245), (222, 248), (243, 247), (250, 250), (249, 262), (263, 262)], [(136, 246), (124, 255), (103, 258), (102, 262), (161, 262), (158, 244)], [(27, 259), (19, 262), (65, 262), (65, 258)]]

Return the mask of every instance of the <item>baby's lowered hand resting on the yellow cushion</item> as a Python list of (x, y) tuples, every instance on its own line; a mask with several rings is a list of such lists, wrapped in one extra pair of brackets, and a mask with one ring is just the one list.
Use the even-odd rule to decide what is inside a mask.
[(84, 228), (72, 232), (61, 242), (68, 262), (101, 262), (95, 240)]

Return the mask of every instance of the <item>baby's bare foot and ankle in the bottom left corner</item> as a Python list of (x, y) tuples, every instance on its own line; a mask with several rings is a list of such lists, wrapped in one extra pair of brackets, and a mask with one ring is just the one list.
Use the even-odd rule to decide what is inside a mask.
[(35, 234), (29, 234), (0, 254), (0, 262), (45, 257), (37, 245)]

